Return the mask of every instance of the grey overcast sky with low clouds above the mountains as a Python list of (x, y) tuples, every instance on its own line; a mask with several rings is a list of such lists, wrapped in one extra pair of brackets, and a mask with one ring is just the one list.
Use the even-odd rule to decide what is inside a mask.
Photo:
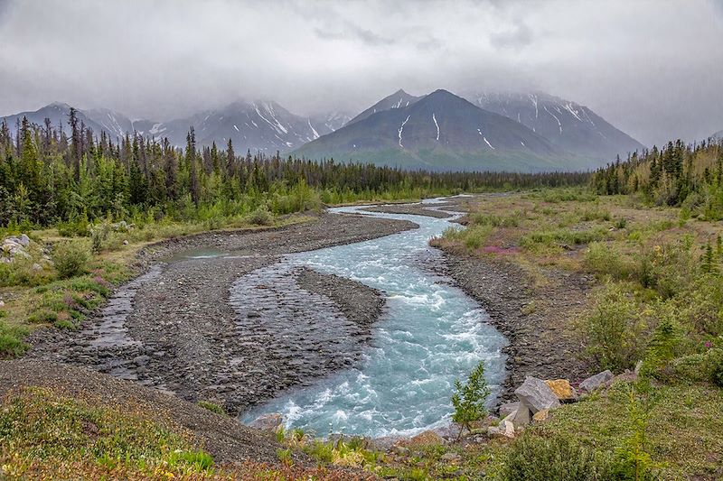
[(723, 129), (723, 0), (0, 0), (0, 116), (542, 90), (648, 145)]

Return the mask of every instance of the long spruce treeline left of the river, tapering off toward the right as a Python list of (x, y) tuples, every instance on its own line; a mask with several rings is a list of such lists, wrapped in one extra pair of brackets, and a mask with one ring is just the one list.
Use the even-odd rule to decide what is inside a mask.
[(362, 163), (237, 155), (197, 147), (193, 130), (185, 149), (167, 139), (127, 135), (115, 142), (79, 121), (69, 134), (53, 126), (18, 122), (16, 134), (0, 125), (0, 226), (49, 226), (83, 217), (123, 219), (139, 214), (194, 219), (264, 208), (277, 214), (322, 202), (414, 199), (461, 191), (579, 185), (586, 173), (402, 171)]

